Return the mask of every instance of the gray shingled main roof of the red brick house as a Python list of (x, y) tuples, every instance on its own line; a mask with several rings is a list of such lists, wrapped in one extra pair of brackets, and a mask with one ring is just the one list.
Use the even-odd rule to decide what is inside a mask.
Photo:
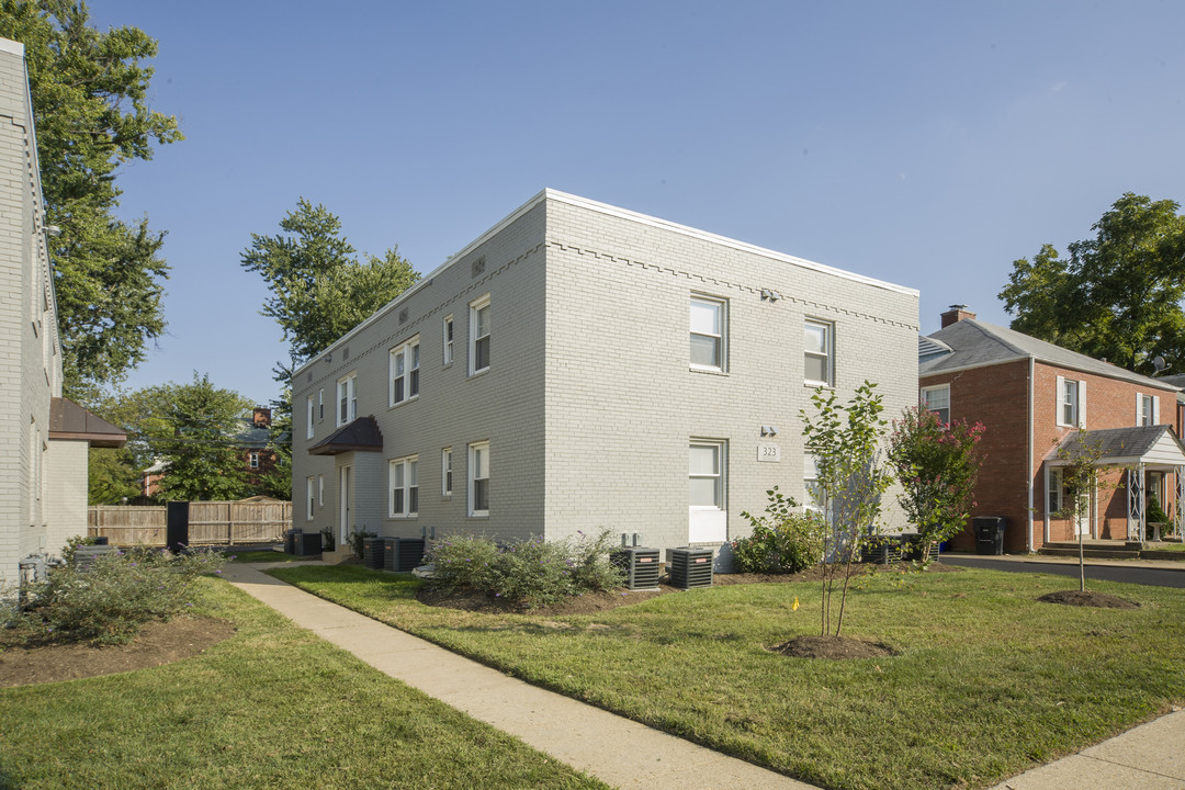
[[(975, 319), (963, 319), (952, 323), (944, 329), (925, 335), (925, 339), (930, 342), (918, 343), (918, 375), (922, 377), (1033, 357), (1043, 362), (1082, 373), (1106, 375), (1158, 390), (1180, 390), (1180, 386), (1170, 384), (1165, 379), (1140, 375), (1110, 362), (1030, 338), (1014, 329), (997, 327)], [(943, 352), (943, 346), (950, 351)]]

